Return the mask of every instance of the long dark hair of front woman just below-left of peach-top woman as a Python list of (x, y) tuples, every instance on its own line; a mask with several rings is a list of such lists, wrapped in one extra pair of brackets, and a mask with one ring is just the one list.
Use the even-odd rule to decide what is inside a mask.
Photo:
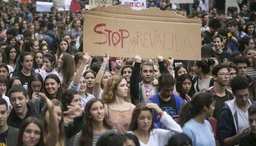
[[(91, 146), (93, 144), (93, 126), (90, 109), (92, 108), (92, 105), (95, 102), (101, 102), (104, 107), (104, 103), (97, 98), (93, 98), (87, 102), (85, 106), (84, 125), (82, 128), (82, 134), (79, 139), (80, 146)], [(111, 126), (108, 124), (108, 120), (106, 119), (106, 117), (103, 119), (103, 126), (107, 129), (111, 129)]]

